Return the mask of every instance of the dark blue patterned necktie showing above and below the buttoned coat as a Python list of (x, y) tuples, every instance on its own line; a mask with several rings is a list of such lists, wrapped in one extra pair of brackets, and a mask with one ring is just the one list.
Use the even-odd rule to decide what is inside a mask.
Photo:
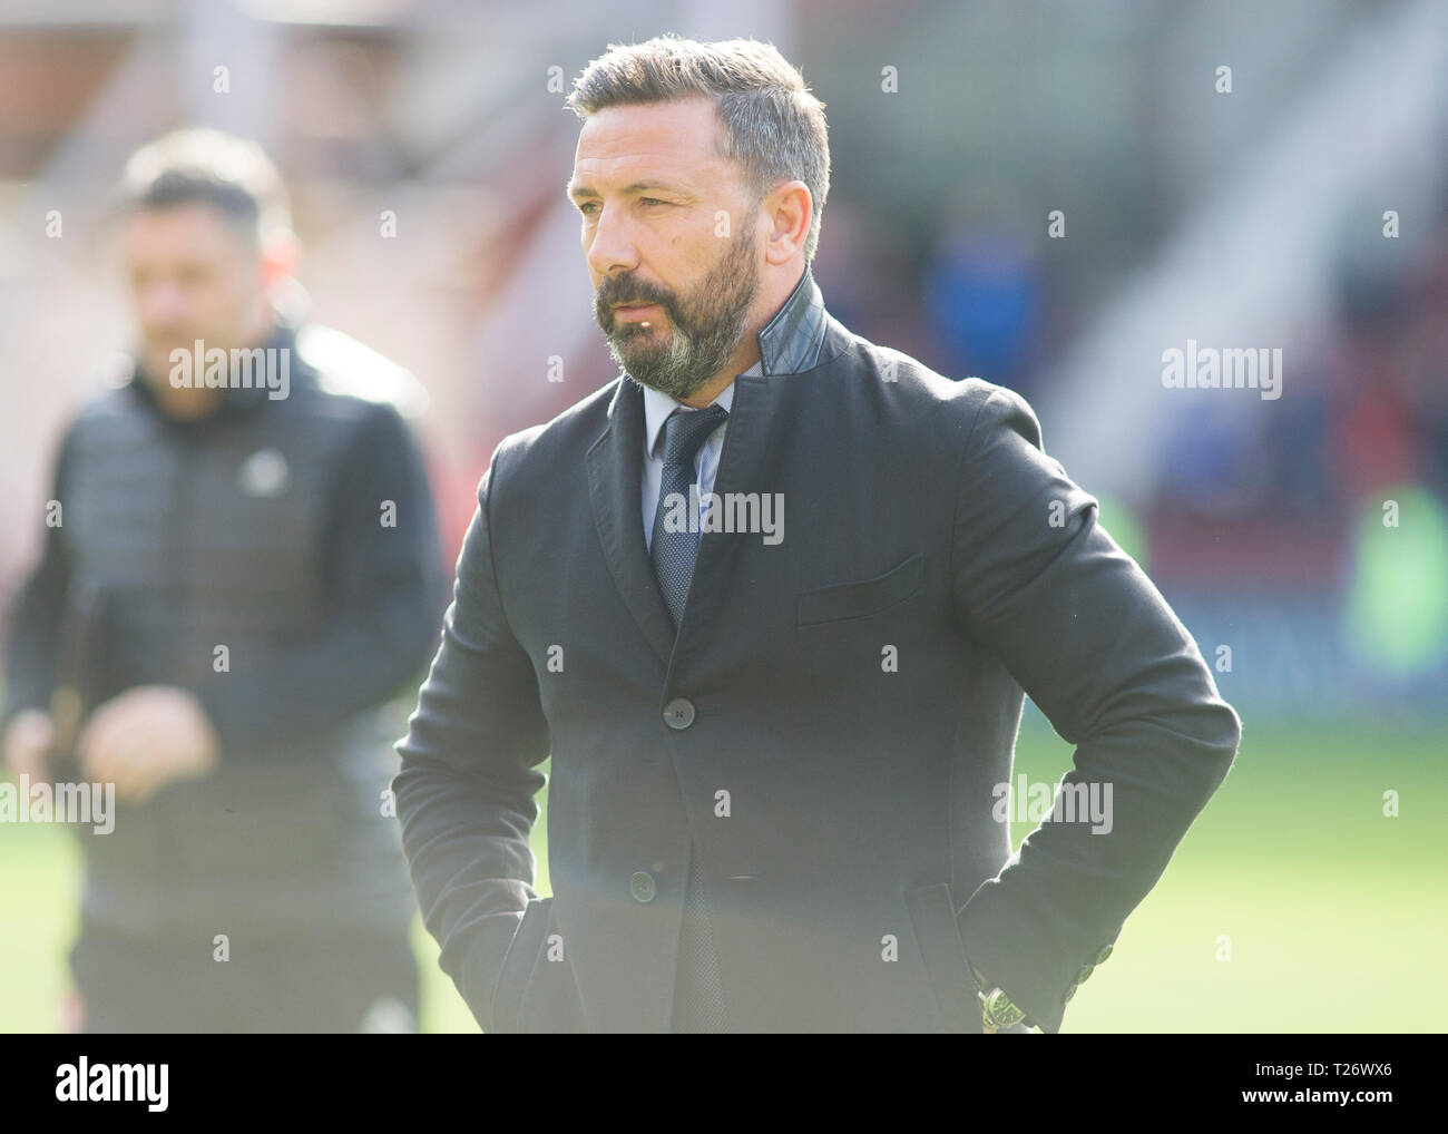
[[(694, 560), (699, 553), (698, 514), (689, 490), (694, 487), (694, 456), (705, 439), (728, 419), (723, 406), (702, 410), (675, 410), (663, 423), (663, 478), (659, 484), (659, 507), (653, 514), (653, 537), (649, 545), (653, 574), (669, 607), (673, 627), (683, 618), (683, 601), (694, 579)], [(675, 500), (670, 500), (670, 495)], [(683, 532), (670, 532), (665, 517), (678, 517), (682, 498), (689, 523)], [(678, 524), (676, 524), (678, 526)], [(683, 923), (679, 931), (679, 966), (673, 992), (673, 1031), (728, 1031), (724, 991), (720, 982), (718, 954), (710, 930), (708, 902), (699, 856), (689, 854), (689, 881), (683, 901)]]

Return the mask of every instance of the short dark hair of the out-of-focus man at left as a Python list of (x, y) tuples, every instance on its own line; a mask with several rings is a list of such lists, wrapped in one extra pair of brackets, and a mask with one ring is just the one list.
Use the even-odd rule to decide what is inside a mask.
[(126, 161), (117, 197), (126, 214), (207, 204), (256, 246), (291, 227), (277, 167), (256, 142), (220, 130), (172, 130), (142, 146)]

